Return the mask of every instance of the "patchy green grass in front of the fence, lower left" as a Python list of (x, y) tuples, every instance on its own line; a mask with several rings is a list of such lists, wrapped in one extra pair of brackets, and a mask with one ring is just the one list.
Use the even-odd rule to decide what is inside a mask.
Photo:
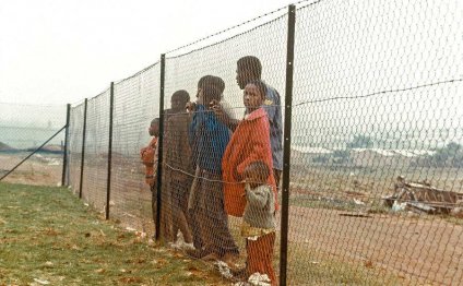
[(228, 285), (100, 219), (69, 190), (0, 183), (0, 285)]

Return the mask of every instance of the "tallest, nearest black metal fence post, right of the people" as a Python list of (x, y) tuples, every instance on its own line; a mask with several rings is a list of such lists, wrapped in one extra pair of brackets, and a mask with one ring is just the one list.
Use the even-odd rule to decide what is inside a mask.
[(286, 285), (287, 252), (288, 252), (288, 217), (289, 217), (289, 167), (290, 167), (290, 129), (293, 105), (293, 68), (294, 68), (294, 35), (296, 24), (296, 7), (288, 7), (288, 34), (286, 50), (286, 93), (285, 93), (285, 127), (283, 146), (283, 192), (282, 192), (282, 225), (280, 248), (280, 285)]

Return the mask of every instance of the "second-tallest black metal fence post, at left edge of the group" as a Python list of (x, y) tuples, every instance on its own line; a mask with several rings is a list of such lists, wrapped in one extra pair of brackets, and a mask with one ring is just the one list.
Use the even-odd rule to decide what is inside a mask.
[(156, 241), (161, 239), (161, 210), (162, 210), (162, 178), (163, 178), (163, 138), (164, 138), (164, 78), (166, 71), (166, 55), (161, 55), (161, 82), (159, 82), (159, 138), (157, 139), (157, 190), (156, 190)]

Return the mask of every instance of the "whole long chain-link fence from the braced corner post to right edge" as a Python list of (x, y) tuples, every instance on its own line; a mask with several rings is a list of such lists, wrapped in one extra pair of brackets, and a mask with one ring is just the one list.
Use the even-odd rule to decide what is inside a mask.
[(459, 284), (462, 4), (290, 9), (73, 106), (74, 192), (238, 278)]

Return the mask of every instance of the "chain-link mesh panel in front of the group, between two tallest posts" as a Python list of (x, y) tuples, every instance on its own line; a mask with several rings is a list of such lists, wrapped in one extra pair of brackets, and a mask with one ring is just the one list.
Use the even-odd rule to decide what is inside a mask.
[[(176, 240), (177, 235), (182, 233), (186, 242), (193, 242), (193, 250), (188, 251), (190, 255), (223, 260), (237, 272), (248, 261), (248, 271), (253, 273), (259, 269), (276, 281), (274, 275), (277, 273), (278, 262), (275, 253), (278, 241), (275, 245), (275, 237), (280, 236), (275, 236), (276, 226), (273, 224), (276, 219), (271, 212), (275, 207), (276, 189), (271, 163), (270, 129), (276, 127), (280, 131), (273, 135), (277, 138), (275, 146), (280, 153), (278, 163), (282, 164), (282, 98), (277, 91), (284, 91), (287, 15), (277, 11), (269, 17), (258, 27), (248, 27), (249, 31), (219, 43), (167, 57), (165, 102), (169, 102), (177, 91), (186, 90), (197, 106), (194, 111), (190, 110), (189, 119), (185, 110), (181, 110), (167, 120), (164, 163), (170, 171), (170, 181), (166, 182), (170, 186), (163, 188), (163, 192), (167, 192), (165, 196), (168, 198), (167, 203), (173, 213), (171, 239)], [(261, 76), (257, 74), (256, 64), (245, 61), (241, 69), (252, 74), (245, 75), (242, 72), (244, 79), (237, 78), (237, 62), (246, 56), (254, 56), (260, 60)], [(241, 90), (246, 83), (242, 81), (259, 78), (266, 83), (269, 91), (266, 95), (260, 90), (254, 93), (270, 110), (271, 127), (264, 109), (252, 112), (250, 107), (247, 111), (244, 105)], [(261, 95), (265, 95), (265, 98), (261, 98)], [(235, 119), (234, 123), (214, 114), (216, 107), (211, 107), (211, 102), (218, 102), (217, 106)], [(237, 128), (237, 120), (244, 119), (245, 111), (249, 114), (249, 120)], [(265, 120), (262, 121), (263, 118)], [(229, 129), (236, 130), (232, 132)], [(179, 143), (187, 140), (189, 145)], [(191, 154), (191, 160), (187, 154)], [(256, 230), (259, 226), (269, 228), (269, 234), (265, 233), (265, 236), (256, 241), (246, 239), (241, 234), (245, 231), (241, 216), (247, 201), (242, 196), (245, 183), (241, 181), (250, 180), (246, 178), (245, 170), (253, 162), (263, 163), (272, 174), (269, 182), (263, 180), (264, 189), (261, 193), (266, 198), (261, 203), (268, 212), (250, 215), (264, 225), (248, 225), (248, 230)], [(233, 170), (236, 168), (239, 170)], [(282, 169), (281, 165), (278, 169)], [(269, 188), (265, 189), (268, 184)], [(191, 234), (181, 231), (188, 229), (185, 225), (190, 226)], [(177, 229), (180, 230), (178, 234)], [(250, 234), (248, 236), (251, 237)], [(248, 260), (247, 252), (253, 253)], [(241, 271), (240, 274), (245, 275), (245, 272)]]

